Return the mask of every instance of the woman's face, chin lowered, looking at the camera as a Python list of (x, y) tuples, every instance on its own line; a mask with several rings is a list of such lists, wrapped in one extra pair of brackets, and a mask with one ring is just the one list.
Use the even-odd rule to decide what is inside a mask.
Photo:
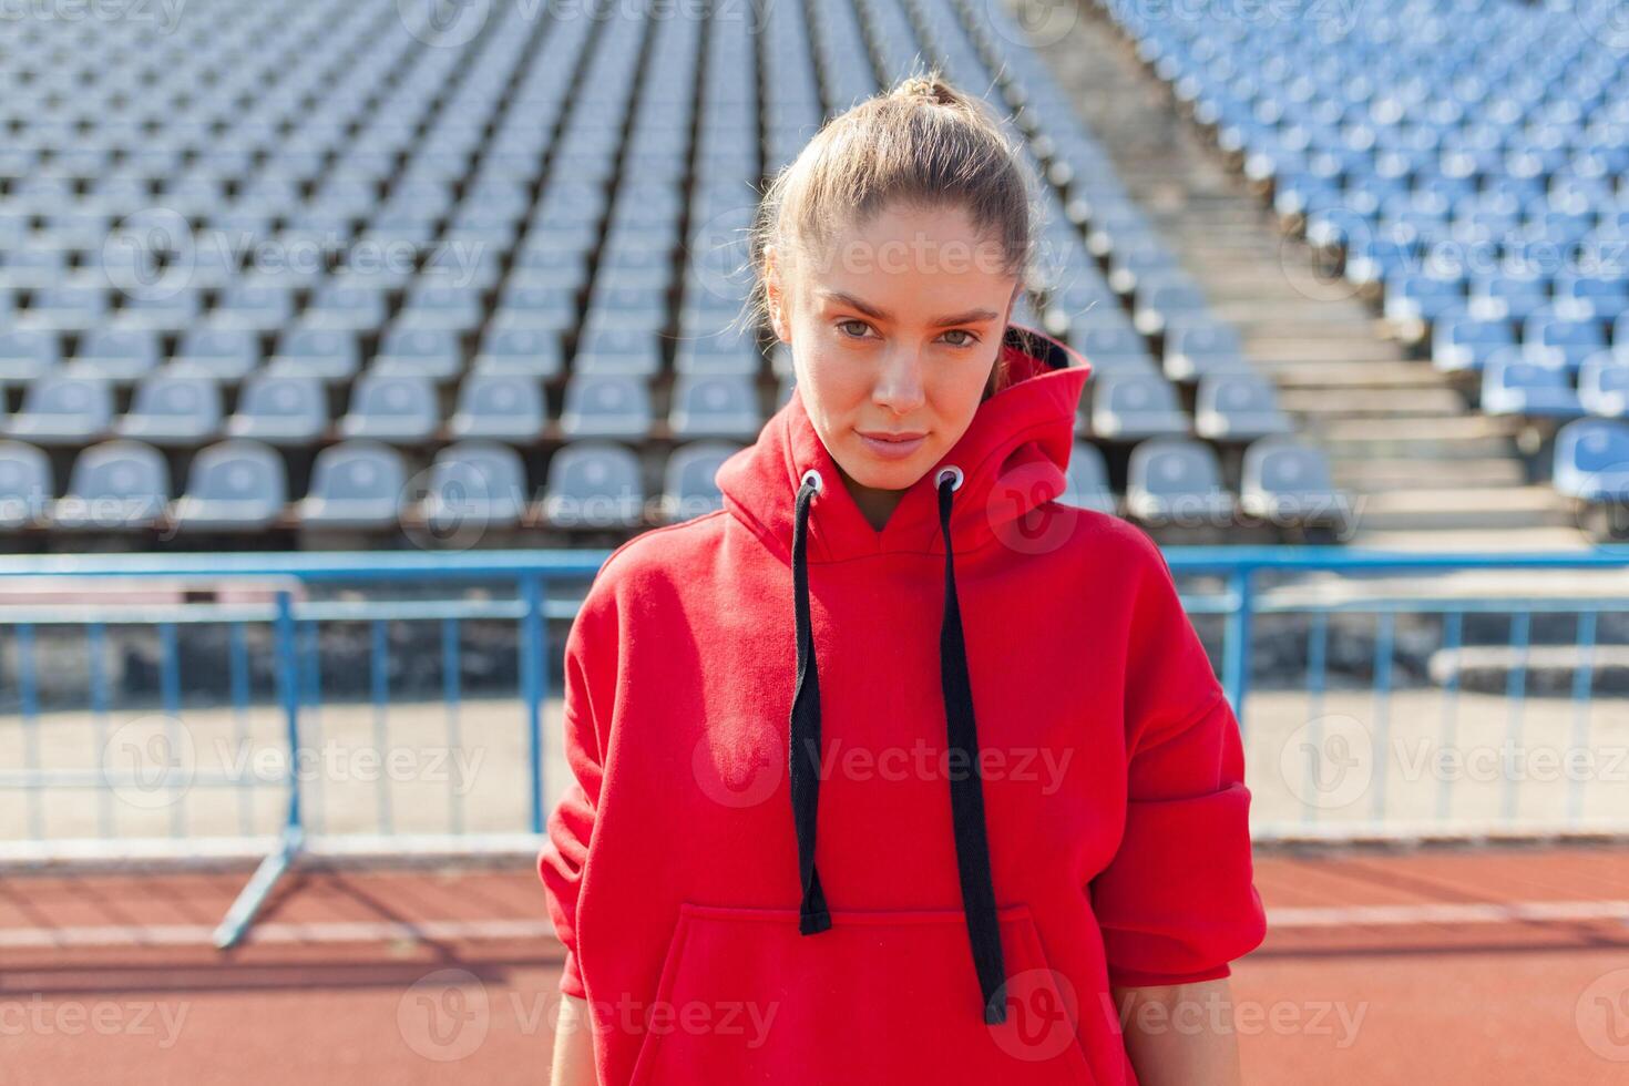
[(767, 249), (775, 335), (852, 484), (904, 490), (968, 430), (1018, 291), (1002, 264), (959, 207), (883, 208), (818, 256)]

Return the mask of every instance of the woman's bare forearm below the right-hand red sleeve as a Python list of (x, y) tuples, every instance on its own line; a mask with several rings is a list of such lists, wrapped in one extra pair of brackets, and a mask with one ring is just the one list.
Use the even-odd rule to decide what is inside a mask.
[(1109, 988), (1142, 1086), (1241, 1086), (1227, 977)]

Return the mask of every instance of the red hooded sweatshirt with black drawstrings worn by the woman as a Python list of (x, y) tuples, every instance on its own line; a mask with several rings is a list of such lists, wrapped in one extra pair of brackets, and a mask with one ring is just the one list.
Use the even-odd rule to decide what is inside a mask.
[(1170, 568), (1056, 501), (1090, 365), (1002, 350), (881, 531), (795, 391), (723, 510), (596, 575), (538, 869), (599, 1083), (1135, 1086), (1109, 985), (1264, 938), (1238, 721)]

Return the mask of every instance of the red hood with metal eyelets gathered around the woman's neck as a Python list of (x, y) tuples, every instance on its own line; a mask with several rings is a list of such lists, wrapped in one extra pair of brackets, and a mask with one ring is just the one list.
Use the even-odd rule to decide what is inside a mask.
[(959, 467), (951, 515), (953, 545), (976, 550), (1002, 524), (1049, 501), (1065, 488), (1064, 471), (1075, 440), (1075, 410), (1091, 365), (1060, 340), (1008, 324), (1002, 335), (1007, 378), (973, 415), (961, 440), (906, 488), (881, 531), (842, 485), (837, 464), (814, 431), (801, 392), (777, 410), (754, 444), (731, 454), (717, 472), (725, 508), (790, 558), (798, 485), (810, 469), (828, 484), (808, 519), (808, 560), (891, 550), (943, 554), (935, 480)]

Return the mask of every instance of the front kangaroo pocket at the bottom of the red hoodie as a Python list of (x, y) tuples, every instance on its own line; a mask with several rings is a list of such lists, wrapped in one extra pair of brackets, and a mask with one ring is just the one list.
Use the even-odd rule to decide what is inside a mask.
[(999, 910), (1007, 1021), (987, 1026), (959, 910), (679, 905), (632, 1086), (1091, 1086), (1080, 1003), (1047, 966), (1025, 905)]

